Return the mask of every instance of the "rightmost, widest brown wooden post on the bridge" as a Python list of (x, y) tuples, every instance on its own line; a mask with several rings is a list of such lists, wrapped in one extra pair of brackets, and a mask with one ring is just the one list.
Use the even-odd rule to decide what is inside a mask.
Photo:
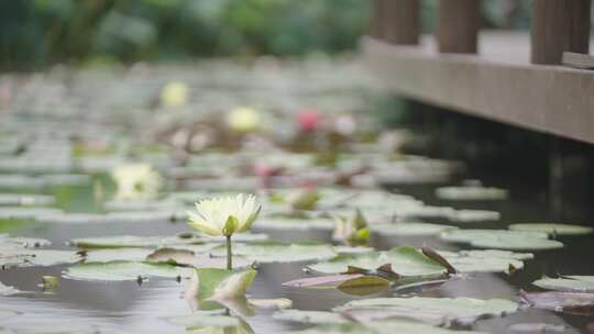
[(591, 0), (534, 0), (532, 64), (561, 64), (563, 52), (587, 54)]

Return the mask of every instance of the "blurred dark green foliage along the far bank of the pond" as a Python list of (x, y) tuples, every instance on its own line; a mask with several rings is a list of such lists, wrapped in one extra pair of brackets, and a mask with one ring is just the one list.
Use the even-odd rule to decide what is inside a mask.
[(301, 55), (356, 46), (362, 0), (1, 0), (0, 63)]

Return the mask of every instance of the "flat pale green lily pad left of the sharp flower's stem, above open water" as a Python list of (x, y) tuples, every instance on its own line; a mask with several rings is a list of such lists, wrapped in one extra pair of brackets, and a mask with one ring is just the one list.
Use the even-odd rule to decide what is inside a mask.
[(187, 276), (184, 269), (167, 264), (117, 260), (72, 266), (64, 271), (64, 277), (99, 281), (142, 280), (147, 277), (178, 278)]

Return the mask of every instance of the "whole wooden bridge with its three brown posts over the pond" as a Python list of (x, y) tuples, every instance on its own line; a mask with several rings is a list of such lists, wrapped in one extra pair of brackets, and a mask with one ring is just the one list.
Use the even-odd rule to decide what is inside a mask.
[(591, 0), (534, 0), (530, 34), (481, 32), (480, 0), (439, 0), (435, 36), (420, 36), (418, 0), (371, 1), (364, 55), (388, 88), (594, 144)]

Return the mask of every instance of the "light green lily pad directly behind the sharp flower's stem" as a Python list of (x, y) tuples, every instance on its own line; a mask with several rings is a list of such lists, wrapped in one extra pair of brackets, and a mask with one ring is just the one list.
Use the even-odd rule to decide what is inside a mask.
[[(223, 257), (223, 246), (215, 248), (213, 256)], [(332, 246), (317, 243), (286, 244), (277, 242), (234, 244), (233, 255), (243, 256), (258, 263), (293, 263), (316, 259), (328, 259), (337, 255)]]

